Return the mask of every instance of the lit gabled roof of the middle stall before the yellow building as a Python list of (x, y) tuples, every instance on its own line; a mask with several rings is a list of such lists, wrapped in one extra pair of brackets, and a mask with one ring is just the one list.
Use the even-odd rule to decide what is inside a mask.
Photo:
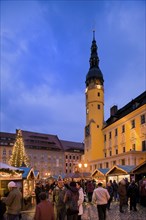
[(135, 166), (128, 166), (128, 165), (114, 165), (107, 173), (109, 174), (129, 174)]

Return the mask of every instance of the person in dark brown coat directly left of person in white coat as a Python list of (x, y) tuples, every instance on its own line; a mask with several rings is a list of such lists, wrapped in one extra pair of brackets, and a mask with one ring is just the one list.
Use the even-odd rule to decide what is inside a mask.
[(78, 220), (78, 207), (79, 192), (76, 188), (76, 182), (70, 182), (68, 190), (64, 196), (64, 203), (66, 203), (67, 220)]

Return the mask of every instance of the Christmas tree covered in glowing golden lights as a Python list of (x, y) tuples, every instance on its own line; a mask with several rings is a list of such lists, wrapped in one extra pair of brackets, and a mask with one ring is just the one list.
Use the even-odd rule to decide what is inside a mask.
[(29, 159), (25, 152), (24, 141), (22, 137), (22, 131), (18, 130), (16, 141), (13, 146), (12, 155), (9, 163), (14, 167), (29, 166)]

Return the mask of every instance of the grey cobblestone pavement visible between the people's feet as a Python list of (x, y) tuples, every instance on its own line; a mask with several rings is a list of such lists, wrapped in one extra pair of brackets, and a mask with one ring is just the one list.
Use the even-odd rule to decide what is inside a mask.
[[(106, 220), (146, 220), (146, 207), (137, 205), (137, 212), (130, 211), (129, 206), (123, 208), (124, 213), (119, 212), (119, 203), (112, 202), (111, 210), (107, 211)], [(34, 216), (35, 208), (22, 212), (22, 220), (32, 220)], [(85, 203), (84, 214), (82, 220), (99, 220), (97, 208), (95, 205)]]

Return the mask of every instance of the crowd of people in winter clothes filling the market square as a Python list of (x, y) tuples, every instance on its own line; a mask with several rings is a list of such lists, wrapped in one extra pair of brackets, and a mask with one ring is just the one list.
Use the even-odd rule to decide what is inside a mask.
[[(7, 220), (21, 219), (22, 194), (16, 183), (8, 184), (9, 194), (0, 198), (0, 219), (4, 219), (7, 208)], [(138, 183), (134, 180), (122, 179), (119, 183), (107, 182), (103, 186), (101, 182), (93, 180), (79, 182), (66, 182), (59, 178), (57, 181), (36, 183), (36, 209), (34, 220), (81, 220), (83, 215), (83, 204), (97, 205), (99, 220), (106, 220), (107, 210), (111, 203), (119, 203), (119, 211), (123, 213), (123, 206), (129, 205), (130, 210), (137, 211), (137, 203), (146, 207), (146, 178)]]

